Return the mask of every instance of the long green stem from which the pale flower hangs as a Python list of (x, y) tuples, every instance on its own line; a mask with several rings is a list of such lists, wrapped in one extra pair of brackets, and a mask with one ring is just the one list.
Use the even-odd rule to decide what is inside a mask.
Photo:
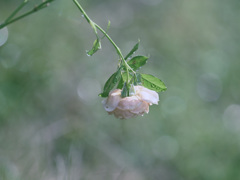
[(96, 28), (98, 30), (100, 30), (106, 37), (107, 39), (110, 41), (110, 43), (113, 45), (113, 47), (116, 49), (117, 54), (120, 56), (121, 61), (123, 62), (126, 71), (127, 71), (127, 84), (129, 82), (129, 70), (132, 71), (135, 74), (135, 71), (128, 65), (128, 63), (125, 61), (122, 52), (120, 50), (120, 48), (116, 45), (116, 43), (112, 40), (112, 38), (107, 34), (107, 32), (105, 30), (103, 30), (98, 24), (96, 24), (95, 22), (93, 22), (89, 16), (87, 15), (87, 13), (84, 11), (84, 9), (82, 8), (82, 6), (79, 4), (79, 2), (77, 0), (73, 0), (73, 2), (76, 4), (76, 6), (78, 7), (78, 9), (81, 11), (81, 13), (84, 15), (85, 19), (87, 20), (87, 22), (93, 27), (95, 33), (96, 32)]

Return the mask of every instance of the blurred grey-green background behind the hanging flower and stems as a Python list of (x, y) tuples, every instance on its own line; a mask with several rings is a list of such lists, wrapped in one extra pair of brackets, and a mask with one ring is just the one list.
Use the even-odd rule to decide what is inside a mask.
[[(23, 11), (40, 1), (32, 0)], [(20, 4), (0, 1), (0, 22)], [(72, 1), (8, 26), (0, 47), (0, 180), (240, 179), (240, 1), (83, 0), (124, 54), (168, 87), (144, 117), (118, 120), (98, 93), (116, 70)], [(6, 36), (6, 32), (5, 35)], [(2, 37), (4, 38), (4, 37)]]

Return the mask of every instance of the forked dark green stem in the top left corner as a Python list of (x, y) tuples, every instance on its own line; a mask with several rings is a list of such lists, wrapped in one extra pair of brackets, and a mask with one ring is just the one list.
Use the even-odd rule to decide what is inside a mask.
[(9, 24), (12, 24), (30, 14), (33, 14), (43, 8), (46, 8), (48, 7), (48, 3), (50, 3), (51, 1), (53, 0), (48, 0), (48, 1), (45, 1), (45, 2), (42, 2), (41, 4), (39, 4), (38, 6), (34, 7), (32, 10), (12, 19), (18, 12), (19, 10), (21, 10), (23, 8), (23, 6), (26, 5), (26, 3), (28, 2), (28, 0), (24, 0), (23, 3), (4, 21), (3, 24), (0, 24), (0, 29), (4, 28), (5, 26), (9, 25)]

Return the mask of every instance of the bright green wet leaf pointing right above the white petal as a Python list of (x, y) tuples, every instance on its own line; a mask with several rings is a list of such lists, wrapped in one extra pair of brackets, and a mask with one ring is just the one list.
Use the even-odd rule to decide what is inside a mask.
[(141, 74), (142, 85), (148, 89), (154, 90), (156, 92), (165, 91), (167, 87), (158, 78), (150, 74)]

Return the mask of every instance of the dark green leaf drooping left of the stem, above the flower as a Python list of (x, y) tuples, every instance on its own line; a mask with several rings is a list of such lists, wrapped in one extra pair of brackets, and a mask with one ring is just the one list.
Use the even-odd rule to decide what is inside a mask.
[(114, 88), (114, 86), (120, 81), (121, 70), (118, 69), (117, 72), (113, 73), (104, 85), (103, 93), (99, 94), (101, 97), (107, 97), (109, 92)]

